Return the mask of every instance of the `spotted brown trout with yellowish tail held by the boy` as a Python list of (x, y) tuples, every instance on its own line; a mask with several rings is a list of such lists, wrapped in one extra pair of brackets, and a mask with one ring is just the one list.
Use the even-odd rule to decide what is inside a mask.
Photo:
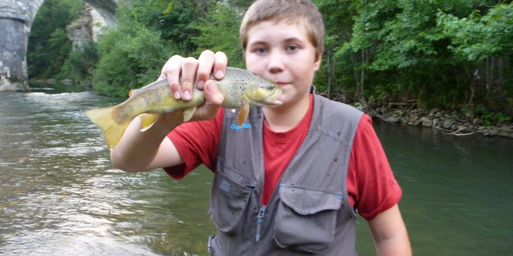
[[(223, 108), (239, 109), (238, 119), (241, 126), (249, 113), (249, 106), (272, 108), (282, 104), (277, 100), (282, 89), (273, 82), (255, 75), (247, 70), (226, 68), (222, 80), (215, 80), (223, 94)], [(128, 124), (140, 116), (141, 131), (147, 130), (162, 113), (183, 110), (184, 122), (188, 121), (196, 110), (196, 106), (205, 102), (202, 90), (194, 86), (192, 99), (184, 101), (175, 99), (166, 79), (155, 81), (147, 86), (130, 92), (125, 102), (108, 108), (86, 111), (86, 116), (102, 130), (105, 142), (112, 149), (121, 139)]]

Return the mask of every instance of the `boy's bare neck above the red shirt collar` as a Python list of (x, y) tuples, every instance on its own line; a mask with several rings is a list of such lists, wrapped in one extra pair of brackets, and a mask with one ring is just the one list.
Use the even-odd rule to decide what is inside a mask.
[(309, 105), (310, 98), (306, 95), (306, 97), (291, 105), (279, 106), (278, 108), (263, 108), (265, 122), (269, 129), (274, 132), (289, 131), (301, 122), (308, 111)]

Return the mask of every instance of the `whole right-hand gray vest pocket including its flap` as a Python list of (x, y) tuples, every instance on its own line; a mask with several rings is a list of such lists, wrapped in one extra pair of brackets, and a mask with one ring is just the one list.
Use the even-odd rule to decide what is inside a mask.
[(280, 187), (274, 244), (303, 252), (321, 252), (333, 241), (342, 197), (326, 191)]

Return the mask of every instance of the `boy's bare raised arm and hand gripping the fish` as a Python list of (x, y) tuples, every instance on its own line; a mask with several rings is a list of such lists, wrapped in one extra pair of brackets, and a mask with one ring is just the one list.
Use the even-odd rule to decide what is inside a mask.
[[(192, 87), (196, 82), (199, 89), (205, 89), (205, 103), (196, 109), (191, 121), (212, 119), (221, 108), (223, 95), (210, 73), (221, 79), (226, 71), (227, 58), (224, 53), (204, 51), (199, 59), (173, 56), (164, 65), (160, 79), (167, 79), (175, 98), (190, 100)], [(182, 82), (180, 82), (182, 77)], [(141, 119), (134, 118), (128, 125), (120, 142), (110, 152), (112, 164), (126, 172), (173, 166), (183, 163), (167, 134), (183, 123), (183, 115), (177, 112), (162, 114), (150, 129), (141, 132)]]

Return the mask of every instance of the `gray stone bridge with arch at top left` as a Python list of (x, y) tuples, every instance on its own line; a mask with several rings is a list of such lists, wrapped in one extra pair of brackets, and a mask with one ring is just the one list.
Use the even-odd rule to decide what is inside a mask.
[[(84, 0), (114, 26), (123, 0)], [(27, 91), (27, 44), (32, 22), (44, 0), (0, 0), (0, 91)]]

